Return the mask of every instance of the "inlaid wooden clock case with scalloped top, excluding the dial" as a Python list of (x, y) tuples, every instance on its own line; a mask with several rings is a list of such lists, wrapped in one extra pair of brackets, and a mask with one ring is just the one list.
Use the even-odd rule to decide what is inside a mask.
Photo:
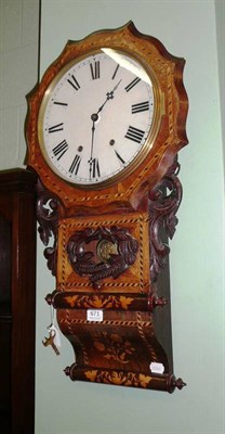
[[(109, 186), (83, 189), (66, 182), (47, 164), (38, 115), (58, 71), (102, 47), (132, 53), (150, 65), (161, 94), (161, 116), (149, 152), (132, 173)], [(169, 285), (169, 275), (162, 271), (169, 253), (164, 237), (167, 241), (174, 233), (182, 197), (176, 155), (187, 143), (184, 63), (129, 23), (69, 41), (28, 98), (27, 165), (39, 176), (39, 232), (56, 277), (56, 289), (47, 301), (75, 349), (76, 361), (65, 369), (71, 380), (168, 392), (184, 385), (173, 375), (171, 336), (164, 333), (171, 328), (170, 308), (162, 296)], [(51, 235), (53, 245), (48, 246)], [(163, 284), (158, 283), (161, 271)], [(103, 310), (103, 320), (89, 321), (88, 309)], [(159, 335), (163, 329), (161, 342), (156, 328)], [(162, 372), (150, 368), (153, 362), (163, 367)]]

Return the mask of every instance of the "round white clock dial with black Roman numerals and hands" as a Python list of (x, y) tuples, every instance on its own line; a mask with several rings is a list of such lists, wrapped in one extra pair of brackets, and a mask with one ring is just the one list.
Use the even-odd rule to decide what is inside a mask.
[(154, 85), (124, 52), (102, 49), (55, 77), (39, 112), (39, 141), (51, 168), (81, 186), (125, 175), (149, 143)]

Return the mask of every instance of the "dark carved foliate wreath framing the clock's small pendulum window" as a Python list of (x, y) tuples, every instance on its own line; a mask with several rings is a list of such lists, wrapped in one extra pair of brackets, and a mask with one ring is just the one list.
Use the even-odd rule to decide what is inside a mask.
[[(118, 278), (136, 258), (138, 242), (118, 226), (88, 228), (70, 237), (67, 252), (74, 270), (95, 284)], [(97, 285), (98, 288), (98, 285)]]

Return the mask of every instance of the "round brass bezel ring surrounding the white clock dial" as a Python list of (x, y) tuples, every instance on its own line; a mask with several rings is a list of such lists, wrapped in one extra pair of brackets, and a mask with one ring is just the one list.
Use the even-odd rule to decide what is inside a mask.
[[(150, 67), (150, 65), (147, 65), (146, 62), (144, 62), (138, 55), (133, 54), (130, 50), (128, 49), (121, 49), (121, 48), (114, 48), (112, 50), (116, 53), (121, 53), (124, 54), (125, 56), (130, 58), (131, 60), (134, 60), (137, 62), (141, 67), (145, 71), (147, 76), (149, 77), (149, 80), (153, 86), (153, 97), (154, 97), (154, 114), (153, 114), (153, 120), (151, 125), (148, 131), (148, 136), (146, 138), (145, 143), (143, 144), (142, 149), (137, 153), (136, 156), (119, 173), (108, 177), (107, 179), (104, 179), (98, 182), (90, 182), (90, 183), (81, 183), (81, 182), (76, 182), (72, 180), (69, 180), (68, 177), (64, 176), (57, 167), (52, 163), (50, 156), (48, 155), (47, 152), (47, 146), (44, 144), (44, 138), (43, 138), (43, 124), (44, 124), (44, 115), (47, 111), (47, 106), (49, 101), (52, 98), (52, 94), (57, 86), (57, 84), (61, 81), (61, 79), (66, 75), (69, 69), (71, 69), (76, 64), (80, 63), (83, 60), (88, 60), (88, 58), (92, 58), (95, 54), (98, 53), (104, 53), (104, 50), (108, 49), (107, 47), (102, 47), (100, 49), (95, 50), (88, 50), (83, 52), (81, 55), (75, 56), (72, 60), (70, 60), (68, 63), (64, 64), (63, 67), (57, 72), (57, 74), (53, 77), (52, 81), (49, 84), (47, 87), (39, 113), (38, 113), (38, 141), (40, 144), (40, 149), (43, 155), (43, 158), (47, 163), (47, 165), (50, 167), (50, 169), (57, 176), (59, 177), (64, 182), (67, 182), (71, 188), (76, 189), (81, 189), (81, 190), (102, 190), (107, 187), (111, 187), (115, 183), (118, 183), (122, 181), (124, 178), (127, 178), (129, 175), (131, 175), (136, 167), (140, 166), (146, 158), (147, 154), (149, 153), (150, 149), (154, 145), (154, 142), (156, 141), (156, 137), (158, 135), (160, 124), (161, 124), (161, 117), (164, 114), (164, 95), (163, 92), (160, 88), (159, 81), (157, 79), (157, 76), (154, 72), (154, 69)], [(111, 49), (111, 48), (110, 48)], [(106, 53), (107, 55), (107, 53)]]

